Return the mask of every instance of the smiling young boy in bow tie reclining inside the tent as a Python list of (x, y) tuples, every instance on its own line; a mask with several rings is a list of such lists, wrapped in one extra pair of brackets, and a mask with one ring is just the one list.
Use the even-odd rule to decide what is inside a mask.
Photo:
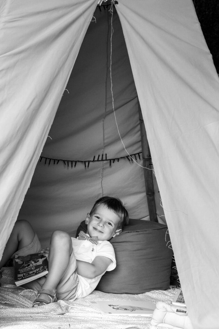
[[(38, 291), (33, 307), (55, 302), (57, 298), (85, 297), (96, 288), (105, 271), (116, 267), (114, 249), (108, 240), (119, 235), (123, 225), (128, 224), (128, 212), (121, 201), (108, 196), (98, 199), (85, 223), (87, 234), (82, 233), (83, 240), (71, 238), (63, 231), (53, 232), (49, 251), (43, 250), (49, 255), (49, 273), (24, 286)], [(94, 238), (89, 241), (85, 240), (87, 237)], [(0, 268), (15, 254), (25, 256), (41, 250), (31, 224), (19, 220), (6, 244)]]

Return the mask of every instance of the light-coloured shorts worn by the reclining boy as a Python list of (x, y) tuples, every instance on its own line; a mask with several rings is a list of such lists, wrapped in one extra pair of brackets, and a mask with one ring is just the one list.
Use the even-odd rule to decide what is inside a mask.
[[(41, 249), (42, 248), (41, 248), (39, 239), (35, 233), (33, 241), (28, 246), (17, 250), (11, 256), (11, 258), (15, 257), (15, 255), (27, 256), (30, 254), (35, 254), (37, 252), (40, 252)], [(61, 278), (61, 280), (59, 281), (59, 283), (56, 287), (56, 293), (57, 293), (58, 299), (64, 299), (64, 300), (76, 299), (77, 285), (78, 285), (78, 281), (79, 281), (77, 272), (76, 272), (76, 268), (77, 268), (77, 260), (75, 258), (74, 252), (72, 252), (72, 254), (70, 256), (69, 265), (68, 265), (63, 277)], [(38, 291), (39, 285), (42, 285), (42, 278), (33, 280), (33, 281), (25, 284), (25, 288)], [(37, 288), (35, 288), (34, 286), (36, 286)]]

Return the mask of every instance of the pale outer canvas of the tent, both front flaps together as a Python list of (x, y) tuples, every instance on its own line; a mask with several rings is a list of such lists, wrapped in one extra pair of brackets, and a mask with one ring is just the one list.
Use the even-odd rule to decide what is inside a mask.
[[(1, 1), (1, 252), (96, 5)], [(218, 76), (190, 0), (116, 7), (188, 313), (216, 329)]]

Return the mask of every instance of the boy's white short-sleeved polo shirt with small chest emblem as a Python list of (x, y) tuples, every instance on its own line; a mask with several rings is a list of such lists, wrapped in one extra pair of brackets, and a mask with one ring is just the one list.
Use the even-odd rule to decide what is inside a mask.
[[(88, 240), (78, 240), (72, 238), (72, 246), (74, 254), (77, 260), (92, 263), (95, 257), (104, 256), (112, 260), (106, 271), (112, 271), (116, 267), (116, 257), (112, 244), (109, 241), (98, 241), (98, 244), (94, 244)], [(77, 271), (77, 269), (76, 269)], [(98, 275), (93, 279), (85, 278), (79, 274), (78, 289), (76, 298), (87, 296), (91, 293), (98, 285), (101, 276), (106, 272)]]

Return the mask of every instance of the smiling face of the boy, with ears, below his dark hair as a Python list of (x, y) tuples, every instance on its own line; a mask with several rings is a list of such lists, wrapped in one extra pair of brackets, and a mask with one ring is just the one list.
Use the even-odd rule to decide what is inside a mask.
[(87, 233), (90, 237), (97, 236), (100, 241), (110, 240), (121, 232), (121, 229), (117, 229), (119, 221), (118, 215), (100, 204), (92, 215), (87, 214)]

